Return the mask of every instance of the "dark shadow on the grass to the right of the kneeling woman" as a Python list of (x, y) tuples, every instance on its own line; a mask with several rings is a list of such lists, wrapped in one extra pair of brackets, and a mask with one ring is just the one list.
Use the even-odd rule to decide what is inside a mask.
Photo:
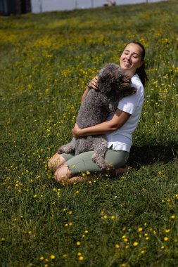
[(143, 165), (163, 162), (164, 164), (174, 161), (178, 155), (178, 143), (174, 141), (167, 145), (144, 145), (132, 146), (128, 165), (139, 169)]

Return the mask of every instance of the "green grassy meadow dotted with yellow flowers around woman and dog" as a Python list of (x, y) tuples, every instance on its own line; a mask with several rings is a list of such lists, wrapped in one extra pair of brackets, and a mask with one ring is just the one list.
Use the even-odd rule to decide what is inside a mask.
[[(0, 17), (0, 265), (177, 266), (178, 2)], [(60, 185), (89, 79), (146, 47), (146, 95), (124, 176)], [(87, 174), (83, 174), (86, 176)]]

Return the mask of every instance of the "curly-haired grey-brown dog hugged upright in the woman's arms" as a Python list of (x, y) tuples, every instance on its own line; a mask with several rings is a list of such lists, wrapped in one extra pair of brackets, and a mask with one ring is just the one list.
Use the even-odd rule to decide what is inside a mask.
[[(81, 129), (104, 122), (110, 112), (115, 112), (121, 98), (136, 92), (136, 89), (131, 87), (129, 75), (114, 63), (108, 63), (100, 70), (97, 87), (97, 90), (89, 90), (80, 107), (76, 122)], [(91, 157), (93, 162), (101, 169), (113, 169), (113, 165), (104, 159), (107, 145), (104, 135), (84, 136), (72, 138), (70, 143), (58, 148), (58, 153), (75, 152), (75, 155), (78, 155), (94, 150)]]

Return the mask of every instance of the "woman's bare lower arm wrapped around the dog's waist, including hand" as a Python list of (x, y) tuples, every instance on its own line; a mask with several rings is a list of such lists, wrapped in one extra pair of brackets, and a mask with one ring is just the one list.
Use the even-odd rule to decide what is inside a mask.
[(116, 131), (127, 122), (130, 116), (131, 114), (117, 109), (113, 119), (110, 119), (108, 122), (102, 122), (101, 124), (96, 124), (84, 129), (80, 129), (79, 126), (75, 124), (75, 127), (72, 129), (72, 136), (79, 138), (80, 136), (95, 136), (97, 134)]

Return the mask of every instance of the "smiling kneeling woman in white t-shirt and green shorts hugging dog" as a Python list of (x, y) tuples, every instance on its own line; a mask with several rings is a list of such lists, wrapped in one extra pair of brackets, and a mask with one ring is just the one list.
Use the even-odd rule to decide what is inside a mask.
[[(132, 96), (122, 98), (117, 105), (115, 113), (110, 113), (106, 122), (80, 129), (75, 124), (72, 135), (75, 138), (80, 136), (94, 136), (106, 134), (108, 140), (108, 151), (106, 161), (116, 169), (116, 174), (125, 171), (123, 166), (129, 157), (132, 146), (132, 133), (139, 122), (141, 109), (144, 102), (144, 84), (146, 72), (144, 70), (145, 48), (142, 44), (132, 41), (125, 46), (120, 56), (120, 67), (122, 70), (132, 75), (132, 86), (137, 89)], [(97, 77), (89, 82), (84, 91), (82, 100), (87, 96), (89, 89), (97, 89)], [(62, 183), (81, 183), (84, 181), (82, 173), (87, 171), (91, 174), (103, 173), (91, 160), (92, 151), (81, 153), (80, 155), (61, 154), (53, 155), (49, 159), (49, 169), (55, 171), (56, 181)]]

